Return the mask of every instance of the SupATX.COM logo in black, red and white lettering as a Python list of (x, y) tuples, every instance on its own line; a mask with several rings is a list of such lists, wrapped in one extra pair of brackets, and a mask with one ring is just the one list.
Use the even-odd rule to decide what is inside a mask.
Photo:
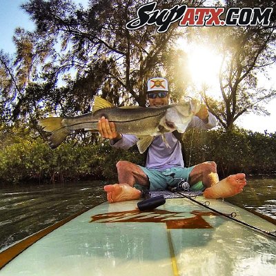
[[(157, 26), (157, 32), (166, 32), (172, 23), (179, 26), (269, 26), (273, 8), (192, 8), (175, 5), (170, 9), (159, 10), (157, 2), (140, 6), (137, 17), (126, 23), (128, 30), (137, 30), (146, 25)], [(222, 19), (223, 18), (223, 19)]]

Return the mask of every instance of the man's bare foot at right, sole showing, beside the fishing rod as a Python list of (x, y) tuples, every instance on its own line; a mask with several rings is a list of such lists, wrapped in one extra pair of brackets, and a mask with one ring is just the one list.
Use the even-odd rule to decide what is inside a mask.
[(204, 190), (204, 197), (206, 198), (224, 198), (233, 197), (242, 192), (246, 185), (246, 175), (244, 173), (237, 173), (237, 175), (230, 175), (221, 181), (217, 182), (210, 188)]

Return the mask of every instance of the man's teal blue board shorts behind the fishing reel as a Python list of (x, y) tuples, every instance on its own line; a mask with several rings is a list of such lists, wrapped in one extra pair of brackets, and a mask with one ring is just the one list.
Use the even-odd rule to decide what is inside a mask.
[[(166, 168), (165, 170), (156, 170), (151, 168), (145, 168), (139, 166), (141, 170), (145, 172), (150, 181), (150, 190), (166, 190), (168, 186), (171, 188), (177, 187), (177, 184), (181, 181), (181, 179), (185, 179), (188, 182), (190, 172), (193, 170), (193, 167), (189, 168), (180, 168), (180, 167), (172, 167)], [(141, 190), (142, 186), (139, 184), (135, 185), (135, 188)], [(197, 182), (193, 186), (190, 186), (190, 190), (204, 190), (204, 185), (202, 181)]]

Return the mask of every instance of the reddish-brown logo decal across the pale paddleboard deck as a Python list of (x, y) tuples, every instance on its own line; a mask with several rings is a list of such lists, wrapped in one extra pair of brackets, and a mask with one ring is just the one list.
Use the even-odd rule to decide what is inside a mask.
[(192, 212), (170, 212), (167, 210), (153, 210), (141, 212), (138, 209), (124, 212), (103, 213), (91, 217), (90, 222), (156, 222), (165, 223), (168, 229), (200, 229), (213, 228), (203, 218), (215, 216), (214, 212), (193, 210)]

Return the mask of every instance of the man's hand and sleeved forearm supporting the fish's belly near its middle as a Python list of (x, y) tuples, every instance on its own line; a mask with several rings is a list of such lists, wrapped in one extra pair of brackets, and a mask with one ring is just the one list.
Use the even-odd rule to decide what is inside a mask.
[(105, 117), (101, 117), (99, 120), (98, 130), (101, 137), (110, 139), (110, 146), (115, 146), (115, 148), (123, 148), (124, 150), (127, 150), (134, 146), (138, 141), (138, 138), (135, 135), (122, 135), (117, 132), (115, 124), (109, 122)]

